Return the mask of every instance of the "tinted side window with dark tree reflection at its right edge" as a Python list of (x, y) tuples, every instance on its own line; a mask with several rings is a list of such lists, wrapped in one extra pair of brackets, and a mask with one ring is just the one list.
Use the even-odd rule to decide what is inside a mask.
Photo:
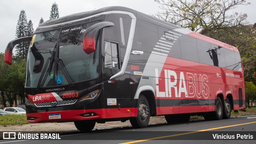
[(199, 62), (202, 64), (214, 65), (211, 44), (209, 42), (205, 42), (203, 40), (196, 39), (197, 49), (198, 49), (198, 57)]

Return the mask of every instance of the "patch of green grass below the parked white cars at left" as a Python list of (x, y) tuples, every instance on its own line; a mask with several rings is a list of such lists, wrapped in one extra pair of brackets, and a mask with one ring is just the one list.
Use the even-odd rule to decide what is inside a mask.
[(6, 126), (6, 125), (15, 125), (15, 124), (28, 124), (26, 115), (5, 115), (0, 116), (0, 125)]

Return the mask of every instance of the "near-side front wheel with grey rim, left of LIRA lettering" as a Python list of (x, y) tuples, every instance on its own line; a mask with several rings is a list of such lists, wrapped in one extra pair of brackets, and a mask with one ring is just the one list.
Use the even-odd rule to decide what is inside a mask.
[(130, 118), (130, 123), (134, 128), (146, 128), (150, 119), (150, 107), (144, 95), (139, 96), (137, 108), (137, 117)]

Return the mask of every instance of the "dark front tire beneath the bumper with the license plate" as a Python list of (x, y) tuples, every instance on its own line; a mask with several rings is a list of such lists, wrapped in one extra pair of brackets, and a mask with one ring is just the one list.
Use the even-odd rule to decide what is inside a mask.
[(90, 121), (90, 120), (79, 120), (79, 121), (74, 121), (74, 124), (76, 128), (81, 131), (81, 132), (88, 132), (91, 131), (96, 122)]

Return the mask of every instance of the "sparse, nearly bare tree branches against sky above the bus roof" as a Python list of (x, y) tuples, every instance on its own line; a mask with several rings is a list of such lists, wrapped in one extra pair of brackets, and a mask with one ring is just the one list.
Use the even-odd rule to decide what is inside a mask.
[(230, 14), (246, 0), (155, 0), (162, 12), (156, 18), (188, 28), (195, 32), (214, 30), (223, 26), (236, 26), (246, 22), (247, 14)]

